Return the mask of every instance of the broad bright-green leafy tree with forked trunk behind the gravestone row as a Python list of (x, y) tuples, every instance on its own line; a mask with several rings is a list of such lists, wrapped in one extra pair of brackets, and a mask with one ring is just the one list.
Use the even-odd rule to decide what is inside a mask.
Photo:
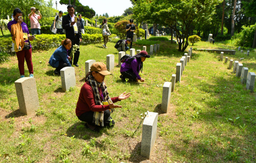
[[(197, 23), (211, 19), (221, 0), (131, 0), (134, 17), (146, 23), (169, 26), (176, 31), (178, 51), (189, 45), (188, 37)], [(140, 22), (141, 22), (140, 21)]]

